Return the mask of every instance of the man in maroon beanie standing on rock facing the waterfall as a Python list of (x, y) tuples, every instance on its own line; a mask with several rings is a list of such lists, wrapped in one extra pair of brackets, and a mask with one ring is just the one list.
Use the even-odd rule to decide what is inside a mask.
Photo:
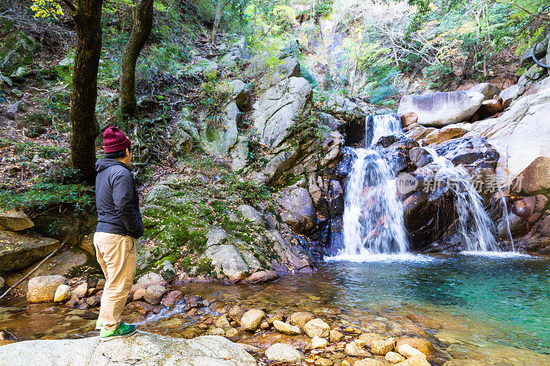
[(131, 142), (116, 127), (103, 133), (104, 159), (96, 163), (98, 227), (94, 234), (96, 256), (106, 283), (96, 329), (100, 339), (129, 336), (136, 326), (120, 322), (120, 314), (135, 277), (135, 240), (143, 235), (140, 201), (130, 171)]

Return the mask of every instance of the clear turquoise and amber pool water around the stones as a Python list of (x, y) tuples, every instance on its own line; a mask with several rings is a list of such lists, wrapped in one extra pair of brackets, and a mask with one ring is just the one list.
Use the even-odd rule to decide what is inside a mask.
[[(179, 290), (267, 312), (334, 314), (341, 322), (362, 327), (384, 321), (399, 328), (410, 323), (409, 314), (419, 314), (441, 325), (426, 329), (423, 337), (454, 358), (481, 365), (550, 365), (550, 258), (505, 252), (371, 258), (376, 257), (370, 262), (327, 262), (316, 273), (283, 276), (267, 284), (184, 284)], [(96, 310), (51, 306), (28, 305), (24, 298), (4, 302), (0, 329), (20, 339), (97, 335)], [(169, 336), (182, 336), (193, 323), (179, 311), (146, 318), (126, 310), (123, 319)], [(263, 344), (262, 336), (244, 337), (240, 341)]]

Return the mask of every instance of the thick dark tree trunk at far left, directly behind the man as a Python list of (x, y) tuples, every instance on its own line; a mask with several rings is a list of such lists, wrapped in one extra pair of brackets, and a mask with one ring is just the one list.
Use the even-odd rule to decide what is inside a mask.
[(71, 163), (85, 181), (96, 178), (96, 119), (98, 67), (101, 52), (103, 0), (75, 1), (71, 13), (76, 28), (73, 91), (69, 119), (72, 126)]

